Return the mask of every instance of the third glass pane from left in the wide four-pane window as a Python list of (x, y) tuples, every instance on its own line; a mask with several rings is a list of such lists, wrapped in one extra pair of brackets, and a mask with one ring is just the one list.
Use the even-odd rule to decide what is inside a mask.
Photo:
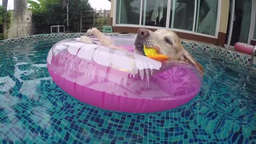
[(193, 30), (195, 0), (173, 0), (170, 28)]

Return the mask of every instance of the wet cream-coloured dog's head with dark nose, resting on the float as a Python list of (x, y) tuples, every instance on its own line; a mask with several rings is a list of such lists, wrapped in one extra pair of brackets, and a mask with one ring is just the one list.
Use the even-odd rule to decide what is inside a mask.
[(143, 45), (157, 50), (158, 54), (166, 55), (170, 60), (183, 61), (194, 65), (203, 75), (203, 66), (183, 49), (180, 38), (171, 30), (158, 29), (151, 31), (140, 28), (134, 42), (135, 51), (142, 53)]

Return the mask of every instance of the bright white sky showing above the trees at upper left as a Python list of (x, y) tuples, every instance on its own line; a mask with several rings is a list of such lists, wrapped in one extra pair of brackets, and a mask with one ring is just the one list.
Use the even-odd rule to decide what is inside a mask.
[[(8, 1), (8, 5), (7, 5), (8, 10), (13, 10), (13, 1), (14, 0)], [(33, 0), (33, 1), (36, 1), (36, 0)], [(89, 2), (91, 3), (91, 6), (93, 7), (93, 9), (110, 10), (111, 8), (111, 3), (108, 0), (89, 0)], [(2, 5), (2, 0), (0, 0), (0, 4)]]

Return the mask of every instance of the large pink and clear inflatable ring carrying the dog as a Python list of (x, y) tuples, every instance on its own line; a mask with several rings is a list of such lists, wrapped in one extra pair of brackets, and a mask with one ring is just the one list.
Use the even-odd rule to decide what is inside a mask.
[[(109, 37), (133, 50), (134, 37)], [(47, 56), (53, 81), (89, 105), (127, 113), (169, 110), (189, 102), (199, 92), (202, 77), (191, 65), (158, 62), (140, 54), (66, 39)]]

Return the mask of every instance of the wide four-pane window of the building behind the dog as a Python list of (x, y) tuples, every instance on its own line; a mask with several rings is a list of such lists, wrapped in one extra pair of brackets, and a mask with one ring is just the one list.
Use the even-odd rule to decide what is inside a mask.
[(116, 0), (116, 24), (173, 28), (215, 36), (218, 8), (219, 0)]

